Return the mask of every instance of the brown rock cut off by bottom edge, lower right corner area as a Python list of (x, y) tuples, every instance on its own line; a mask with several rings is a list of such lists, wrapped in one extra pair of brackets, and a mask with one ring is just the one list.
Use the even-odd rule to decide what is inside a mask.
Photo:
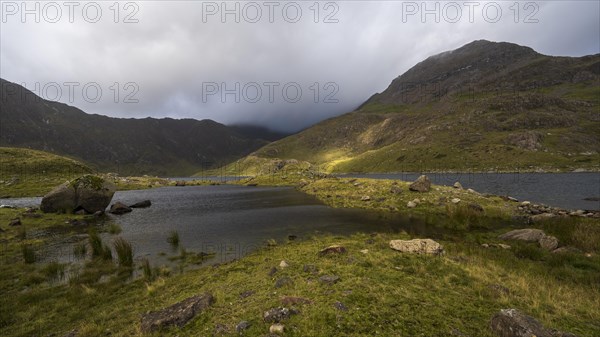
[(490, 328), (498, 337), (577, 337), (567, 332), (546, 329), (535, 318), (516, 309), (502, 309), (492, 317)]

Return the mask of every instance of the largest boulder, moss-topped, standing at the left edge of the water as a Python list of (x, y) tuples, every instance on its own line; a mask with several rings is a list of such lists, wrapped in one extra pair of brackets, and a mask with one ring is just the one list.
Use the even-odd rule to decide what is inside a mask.
[(85, 175), (66, 182), (46, 194), (40, 209), (45, 213), (104, 211), (110, 204), (116, 189), (113, 183), (103, 178)]

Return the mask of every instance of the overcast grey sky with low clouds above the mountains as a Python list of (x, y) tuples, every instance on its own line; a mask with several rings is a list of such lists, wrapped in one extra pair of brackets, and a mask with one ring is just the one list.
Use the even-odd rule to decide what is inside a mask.
[(600, 52), (596, 0), (21, 3), (2, 1), (0, 77), (114, 117), (297, 131), (473, 40)]

